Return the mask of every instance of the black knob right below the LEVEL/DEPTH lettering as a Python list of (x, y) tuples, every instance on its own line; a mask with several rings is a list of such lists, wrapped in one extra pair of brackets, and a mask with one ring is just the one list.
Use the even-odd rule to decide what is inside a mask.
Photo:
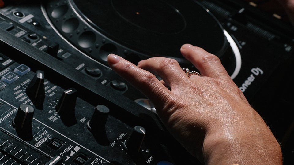
[(127, 152), (139, 152), (145, 137), (146, 130), (141, 126), (135, 126), (123, 147)]

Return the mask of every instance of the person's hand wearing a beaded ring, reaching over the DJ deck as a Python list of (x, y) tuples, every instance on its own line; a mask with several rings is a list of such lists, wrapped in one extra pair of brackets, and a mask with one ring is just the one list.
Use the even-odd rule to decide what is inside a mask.
[(190, 44), (183, 45), (181, 53), (201, 77), (188, 77), (176, 60), (164, 57), (136, 66), (110, 54), (108, 63), (153, 102), (171, 134), (203, 163), (281, 164), (278, 142), (220, 60)]

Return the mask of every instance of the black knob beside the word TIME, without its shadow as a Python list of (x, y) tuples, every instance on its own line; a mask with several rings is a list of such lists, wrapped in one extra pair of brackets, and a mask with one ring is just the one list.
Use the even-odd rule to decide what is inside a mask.
[(87, 126), (91, 132), (105, 131), (105, 124), (109, 115), (109, 109), (104, 105), (98, 105), (95, 108), (93, 116), (88, 121)]

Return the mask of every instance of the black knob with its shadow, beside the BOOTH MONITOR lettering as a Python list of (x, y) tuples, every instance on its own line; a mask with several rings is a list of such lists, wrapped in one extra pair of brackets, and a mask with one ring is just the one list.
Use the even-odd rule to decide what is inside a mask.
[(22, 104), (19, 106), (16, 116), (12, 120), (12, 126), (17, 135), (24, 141), (32, 140), (32, 119), (34, 108), (30, 105)]

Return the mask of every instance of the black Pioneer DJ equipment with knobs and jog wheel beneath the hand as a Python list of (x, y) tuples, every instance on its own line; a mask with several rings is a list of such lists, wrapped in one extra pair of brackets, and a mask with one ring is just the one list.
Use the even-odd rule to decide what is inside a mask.
[[(11, 1), (0, 8), (1, 165), (202, 164), (107, 64), (217, 55), (293, 162), (290, 24), (237, 0)], [(160, 79), (158, 77), (158, 79)]]

